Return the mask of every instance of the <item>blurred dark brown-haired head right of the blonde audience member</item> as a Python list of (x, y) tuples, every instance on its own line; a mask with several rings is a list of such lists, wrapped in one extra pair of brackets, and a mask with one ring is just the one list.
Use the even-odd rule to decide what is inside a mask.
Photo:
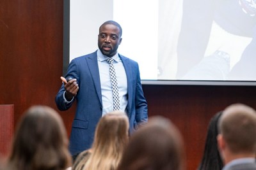
[(150, 117), (132, 134), (118, 169), (180, 170), (185, 167), (182, 136), (167, 118)]

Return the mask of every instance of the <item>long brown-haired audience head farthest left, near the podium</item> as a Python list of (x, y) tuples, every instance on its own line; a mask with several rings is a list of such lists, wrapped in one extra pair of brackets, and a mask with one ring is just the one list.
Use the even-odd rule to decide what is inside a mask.
[(62, 119), (48, 106), (32, 106), (20, 119), (6, 169), (65, 169), (70, 166)]

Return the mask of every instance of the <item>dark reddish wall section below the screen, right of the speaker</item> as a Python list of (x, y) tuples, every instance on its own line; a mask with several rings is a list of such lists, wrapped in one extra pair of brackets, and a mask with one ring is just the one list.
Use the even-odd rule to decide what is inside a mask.
[(148, 115), (170, 118), (182, 132), (188, 169), (198, 166), (211, 117), (233, 103), (256, 108), (256, 87), (143, 85)]

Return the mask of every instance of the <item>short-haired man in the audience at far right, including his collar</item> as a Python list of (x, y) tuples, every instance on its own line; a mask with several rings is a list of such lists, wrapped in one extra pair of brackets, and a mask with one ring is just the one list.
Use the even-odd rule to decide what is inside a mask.
[(256, 111), (244, 104), (232, 104), (223, 111), (218, 128), (223, 170), (256, 169)]

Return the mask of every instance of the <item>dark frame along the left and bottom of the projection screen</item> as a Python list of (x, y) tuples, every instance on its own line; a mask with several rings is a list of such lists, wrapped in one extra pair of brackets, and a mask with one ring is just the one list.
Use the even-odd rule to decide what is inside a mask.
[[(67, 73), (70, 60), (70, 0), (63, 1), (63, 70)], [(214, 81), (214, 80), (141, 80), (143, 85), (220, 85), (256, 86), (256, 81)]]

